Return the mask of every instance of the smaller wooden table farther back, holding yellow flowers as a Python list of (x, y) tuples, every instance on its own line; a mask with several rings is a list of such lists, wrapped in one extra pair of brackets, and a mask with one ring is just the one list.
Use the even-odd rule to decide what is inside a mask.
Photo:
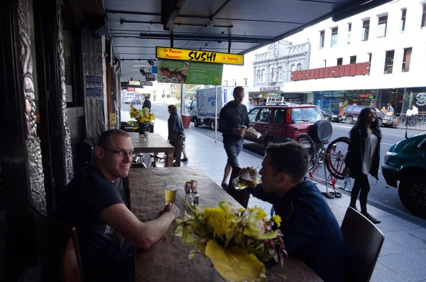
[(133, 142), (133, 148), (135, 153), (165, 153), (167, 155), (167, 166), (173, 167), (173, 153), (175, 147), (173, 147), (167, 140), (160, 136), (160, 134), (149, 134), (148, 139), (145, 139), (143, 135), (139, 135), (136, 132), (129, 132), (131, 141)]

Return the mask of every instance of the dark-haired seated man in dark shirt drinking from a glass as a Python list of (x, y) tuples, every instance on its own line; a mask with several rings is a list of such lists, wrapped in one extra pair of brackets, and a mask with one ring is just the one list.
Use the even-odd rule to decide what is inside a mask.
[[(285, 250), (301, 259), (325, 282), (344, 281), (346, 248), (339, 224), (320, 190), (306, 180), (309, 158), (295, 141), (266, 147), (262, 184), (248, 188), (254, 197), (273, 204), (282, 219)], [(253, 172), (252, 168), (244, 168)]]

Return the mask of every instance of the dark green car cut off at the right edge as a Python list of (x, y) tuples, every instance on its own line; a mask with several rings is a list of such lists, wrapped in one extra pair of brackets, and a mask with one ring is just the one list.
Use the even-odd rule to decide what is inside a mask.
[(386, 183), (397, 187), (401, 202), (413, 214), (426, 217), (426, 132), (395, 143), (381, 167)]

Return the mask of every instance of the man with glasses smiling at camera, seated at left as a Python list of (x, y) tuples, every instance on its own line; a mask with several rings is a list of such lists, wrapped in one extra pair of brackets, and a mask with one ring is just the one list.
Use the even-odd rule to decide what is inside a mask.
[(87, 281), (133, 281), (133, 246), (153, 246), (180, 210), (169, 204), (158, 219), (140, 222), (124, 205), (114, 183), (129, 175), (131, 166), (133, 143), (125, 131), (105, 131), (94, 152), (94, 165), (65, 188), (58, 218), (77, 229)]

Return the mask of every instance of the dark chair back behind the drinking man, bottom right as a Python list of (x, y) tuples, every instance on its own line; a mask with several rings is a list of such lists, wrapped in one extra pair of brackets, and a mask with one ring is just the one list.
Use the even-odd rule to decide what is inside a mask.
[(360, 212), (348, 207), (342, 222), (346, 244), (346, 281), (370, 281), (385, 237), (383, 233)]

